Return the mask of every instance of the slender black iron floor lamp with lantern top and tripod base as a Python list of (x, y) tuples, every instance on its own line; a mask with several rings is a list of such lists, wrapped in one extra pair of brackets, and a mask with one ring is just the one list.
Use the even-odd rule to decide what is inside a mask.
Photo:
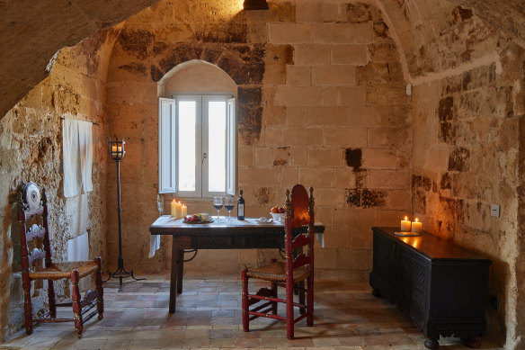
[(119, 212), (119, 267), (117, 267), (117, 270), (115, 272), (110, 273), (110, 277), (104, 282), (108, 282), (111, 279), (111, 277), (119, 277), (119, 292), (122, 292), (122, 278), (131, 276), (131, 278), (135, 281), (146, 280), (146, 278), (135, 278), (135, 276), (133, 275), (133, 271), (126, 271), (126, 269), (124, 268), (124, 259), (122, 258), (122, 234), (120, 230), (120, 212), (122, 211), (122, 209), (120, 208), (120, 162), (122, 161), (122, 159), (124, 159), (124, 155), (126, 154), (126, 150), (124, 149), (125, 145), (126, 142), (124, 141), (124, 139), (119, 141), (119, 139), (115, 138), (115, 140), (113, 141), (110, 138), (110, 157), (117, 164), (117, 205)]

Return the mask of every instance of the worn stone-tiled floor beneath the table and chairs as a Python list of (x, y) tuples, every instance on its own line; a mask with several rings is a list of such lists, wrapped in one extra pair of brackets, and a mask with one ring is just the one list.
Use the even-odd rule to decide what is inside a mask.
[[(250, 323), (251, 332), (243, 331), (238, 276), (186, 274), (174, 315), (168, 313), (167, 278), (127, 279), (124, 292), (117, 292), (118, 284), (111, 280), (104, 288), (104, 319), (90, 320), (80, 339), (72, 323), (41, 324), (31, 336), (22, 330), (0, 349), (424, 349), (423, 335), (410, 319), (389, 302), (374, 298), (368, 283), (316, 282), (315, 326), (307, 328), (301, 320), (296, 339), (290, 341), (285, 324), (272, 319), (257, 319)], [(455, 338), (441, 338), (440, 345), (467, 349)], [(484, 337), (481, 348), (499, 346)]]

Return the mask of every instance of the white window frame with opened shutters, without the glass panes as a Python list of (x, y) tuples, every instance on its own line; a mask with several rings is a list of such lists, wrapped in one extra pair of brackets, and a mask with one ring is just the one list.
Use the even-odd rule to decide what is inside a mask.
[[(235, 195), (237, 179), (237, 120), (235, 98), (230, 93), (205, 93), (205, 94), (173, 94), (172, 99), (159, 99), (159, 193), (175, 193), (179, 197), (212, 198), (216, 195)], [(194, 192), (179, 191), (178, 163), (178, 122), (179, 102), (196, 101), (196, 188)], [(208, 191), (208, 102), (225, 101), (227, 103), (226, 115), (226, 184), (225, 192)], [(169, 104), (170, 108), (166, 107)], [(163, 108), (164, 107), (164, 108)], [(166, 116), (164, 113), (170, 115)], [(168, 128), (169, 130), (166, 130)], [(200, 142), (199, 142), (200, 140)], [(204, 154), (206, 153), (206, 157)], [(166, 168), (171, 171), (166, 171)], [(165, 179), (165, 176), (171, 176)], [(169, 184), (169, 185), (166, 185)]]

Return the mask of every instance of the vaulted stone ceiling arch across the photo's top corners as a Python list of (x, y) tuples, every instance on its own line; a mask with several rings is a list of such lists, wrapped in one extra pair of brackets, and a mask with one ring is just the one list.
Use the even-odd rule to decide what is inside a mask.
[[(58, 49), (75, 45), (94, 32), (122, 22), (158, 1), (0, 1), (0, 119), (49, 74), (46, 67)], [(384, 5), (387, 15), (391, 15), (388, 11), (395, 7), (426, 6), (425, 0), (378, 2)], [(525, 47), (525, 3), (522, 0), (449, 2), (473, 9), (474, 14)], [(392, 17), (395, 17), (393, 13)], [(396, 22), (393, 24), (396, 30)]]

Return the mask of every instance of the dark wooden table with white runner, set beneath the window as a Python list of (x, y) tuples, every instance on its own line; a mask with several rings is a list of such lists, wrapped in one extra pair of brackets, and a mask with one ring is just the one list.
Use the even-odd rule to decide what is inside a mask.
[[(307, 227), (304, 229), (306, 231)], [(316, 222), (315, 231), (322, 235), (325, 226)], [(177, 292), (182, 292), (184, 249), (284, 248), (283, 224), (275, 221), (260, 223), (254, 218), (185, 224), (182, 219), (174, 220), (169, 215), (163, 215), (149, 227), (149, 232), (152, 235), (173, 236), (170, 313), (175, 312)]]

